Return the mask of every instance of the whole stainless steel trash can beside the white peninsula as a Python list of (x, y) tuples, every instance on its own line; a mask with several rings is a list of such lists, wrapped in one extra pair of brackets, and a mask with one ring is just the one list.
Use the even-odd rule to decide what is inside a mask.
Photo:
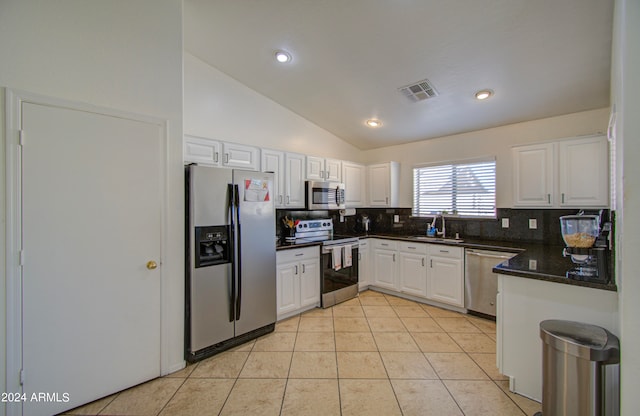
[(619, 412), (620, 342), (581, 322), (540, 322), (543, 416), (601, 416)]

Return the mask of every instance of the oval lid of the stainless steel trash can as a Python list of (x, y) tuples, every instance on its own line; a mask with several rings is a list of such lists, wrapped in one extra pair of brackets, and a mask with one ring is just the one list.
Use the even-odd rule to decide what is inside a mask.
[(620, 360), (618, 337), (596, 325), (550, 319), (540, 322), (540, 338), (558, 351), (586, 360), (606, 364)]

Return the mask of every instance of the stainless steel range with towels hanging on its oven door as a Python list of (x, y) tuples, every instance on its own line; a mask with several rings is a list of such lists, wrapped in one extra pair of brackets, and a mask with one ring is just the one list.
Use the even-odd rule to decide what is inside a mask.
[(296, 240), (321, 241), (322, 307), (328, 308), (358, 295), (358, 237), (333, 234), (333, 221), (303, 220)]

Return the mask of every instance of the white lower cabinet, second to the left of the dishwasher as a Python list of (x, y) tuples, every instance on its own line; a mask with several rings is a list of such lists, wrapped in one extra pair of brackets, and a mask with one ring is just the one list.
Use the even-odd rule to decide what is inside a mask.
[(427, 296), (427, 245), (400, 243), (400, 291)]

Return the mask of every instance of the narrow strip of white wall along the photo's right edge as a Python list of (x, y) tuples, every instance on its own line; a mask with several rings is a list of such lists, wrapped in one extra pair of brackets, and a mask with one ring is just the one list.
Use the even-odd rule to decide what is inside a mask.
[(618, 217), (616, 275), (620, 298), (621, 414), (640, 409), (640, 1), (617, 0), (614, 13), (612, 102), (615, 129)]

